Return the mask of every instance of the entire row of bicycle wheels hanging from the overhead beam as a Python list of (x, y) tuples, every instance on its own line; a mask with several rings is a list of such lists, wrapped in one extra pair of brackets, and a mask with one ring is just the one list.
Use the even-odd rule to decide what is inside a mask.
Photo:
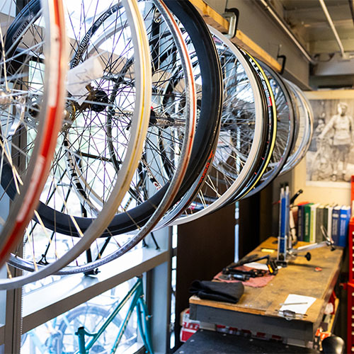
[(302, 91), (182, 0), (0, 5), (0, 289), (96, 270), (302, 159)]

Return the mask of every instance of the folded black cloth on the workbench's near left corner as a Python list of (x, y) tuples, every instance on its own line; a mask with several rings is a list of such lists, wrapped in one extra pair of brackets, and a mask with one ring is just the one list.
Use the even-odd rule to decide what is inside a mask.
[(210, 282), (207, 280), (194, 280), (189, 290), (200, 299), (231, 302), (236, 304), (244, 293), (242, 282)]

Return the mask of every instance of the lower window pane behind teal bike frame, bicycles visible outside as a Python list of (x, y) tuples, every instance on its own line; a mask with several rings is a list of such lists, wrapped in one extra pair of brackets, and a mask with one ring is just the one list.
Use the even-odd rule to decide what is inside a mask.
[[(39, 353), (76, 353), (79, 350), (78, 336), (75, 332), (84, 326), (89, 333), (96, 333), (103, 325), (115, 307), (125, 297), (135, 279), (128, 280), (118, 287), (114, 287), (102, 295), (98, 295), (84, 304), (57, 316), (51, 321), (23, 334), (21, 352), (28, 354)], [(93, 344), (90, 353), (110, 353), (115, 338), (118, 336), (120, 324), (124, 321), (130, 301), (122, 307), (117, 316), (103, 331), (98, 341)], [(92, 337), (86, 336), (86, 343)], [(132, 317), (124, 331), (116, 353), (122, 353), (137, 342), (137, 315), (132, 312)]]

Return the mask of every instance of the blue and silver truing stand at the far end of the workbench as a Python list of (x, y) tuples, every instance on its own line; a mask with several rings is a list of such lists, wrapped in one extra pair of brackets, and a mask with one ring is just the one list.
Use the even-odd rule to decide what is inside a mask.
[[(278, 236), (278, 255), (277, 264), (282, 267), (286, 267), (290, 259), (294, 259), (299, 255), (299, 253), (306, 252), (303, 256), (307, 261), (311, 260), (312, 249), (318, 249), (323, 246), (331, 246), (331, 251), (335, 248), (333, 246), (333, 240), (329, 238), (326, 229), (321, 225), (321, 232), (324, 236), (325, 241), (318, 242), (316, 244), (309, 244), (305, 246), (297, 247), (294, 249), (293, 246), (297, 243), (297, 238), (295, 234), (295, 225), (290, 215), (290, 207), (295, 202), (295, 199), (302, 193), (299, 190), (290, 200), (289, 198), (289, 186), (285, 185), (280, 188), (280, 212), (279, 212), (279, 236)], [(292, 213), (292, 212), (291, 212)], [(290, 229), (291, 224), (291, 229)]]

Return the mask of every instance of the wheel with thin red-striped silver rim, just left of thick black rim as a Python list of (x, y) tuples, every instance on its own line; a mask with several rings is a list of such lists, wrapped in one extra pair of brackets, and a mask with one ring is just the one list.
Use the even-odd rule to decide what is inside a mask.
[[(147, 25), (152, 52), (152, 110), (139, 169), (118, 210), (118, 213), (129, 212), (130, 217), (134, 207), (152, 198), (166, 183), (169, 183), (167, 194), (173, 195), (173, 188), (178, 190), (179, 185), (172, 188), (171, 181), (173, 178), (182, 181), (184, 177), (196, 117), (192, 64), (176, 21), (162, 1), (139, 1), (139, 7)], [(113, 115), (108, 113), (106, 124), (108, 137), (113, 137)], [(116, 153), (112, 140), (108, 139), (108, 145), (113, 167), (118, 173), (120, 156)], [(81, 193), (81, 204), (90, 206), (98, 200), (102, 205), (104, 201), (90, 188), (86, 174), (82, 173), (82, 168), (74, 161), (74, 157), (70, 158), (69, 164), (76, 166), (78, 178), (74, 187), (78, 192), (85, 191)], [(89, 200), (91, 195), (92, 201)], [(157, 217), (156, 210), (153, 215)]]

